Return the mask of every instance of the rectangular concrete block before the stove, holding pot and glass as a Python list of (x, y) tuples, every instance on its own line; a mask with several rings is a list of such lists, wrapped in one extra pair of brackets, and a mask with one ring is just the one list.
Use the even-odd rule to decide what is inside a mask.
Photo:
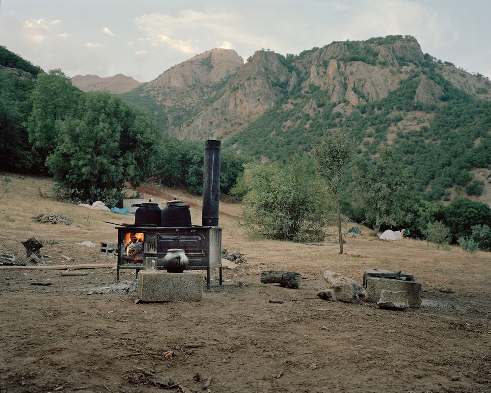
[(203, 297), (203, 276), (198, 272), (141, 270), (137, 296), (143, 302), (196, 302)]

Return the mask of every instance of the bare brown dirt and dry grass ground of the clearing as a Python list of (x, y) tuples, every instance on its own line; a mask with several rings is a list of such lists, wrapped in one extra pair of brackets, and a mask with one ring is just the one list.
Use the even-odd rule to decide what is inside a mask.
[[(22, 259), (20, 242), (34, 236), (51, 265), (115, 264), (99, 253), (100, 242), (117, 237), (103, 221), (132, 218), (53, 201), (50, 188), (48, 179), (12, 175), (0, 199), (0, 253)], [(200, 198), (140, 190), (184, 199), (200, 224)], [(102, 294), (115, 281), (111, 268), (76, 277), (1, 269), (0, 392), (163, 392), (166, 384), (206, 392), (209, 377), (214, 393), (491, 391), (491, 253), (380, 241), (365, 231), (347, 238), (339, 255), (329, 239), (317, 246), (250, 239), (238, 226), (241, 211), (220, 202), (222, 246), (247, 262), (224, 269), (222, 286), (215, 271), (200, 302), (135, 304), (134, 291)], [(30, 221), (44, 212), (73, 217), (74, 226)], [(76, 244), (82, 241), (96, 247)], [(325, 270), (361, 283), (364, 267), (412, 273), (423, 285), (422, 307), (389, 311), (317, 298)], [(300, 289), (261, 284), (265, 269), (305, 280)], [(121, 282), (133, 283), (134, 273), (122, 271)], [(32, 285), (40, 282), (51, 285)], [(455, 292), (441, 292), (444, 286)]]

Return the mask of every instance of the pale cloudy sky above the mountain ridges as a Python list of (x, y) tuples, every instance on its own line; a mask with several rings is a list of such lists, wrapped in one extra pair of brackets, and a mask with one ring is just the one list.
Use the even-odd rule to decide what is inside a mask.
[(489, 0), (0, 0), (0, 45), (70, 77), (147, 82), (212, 48), (246, 59), (409, 34), (424, 53), (491, 78), (490, 15)]

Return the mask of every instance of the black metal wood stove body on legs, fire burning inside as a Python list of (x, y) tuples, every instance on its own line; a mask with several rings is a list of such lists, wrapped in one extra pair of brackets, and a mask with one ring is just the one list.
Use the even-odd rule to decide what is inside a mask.
[[(118, 226), (118, 261), (116, 279), (121, 269), (135, 269), (136, 274), (145, 269), (152, 258), (157, 259), (157, 269), (164, 269), (164, 256), (169, 249), (182, 249), (189, 259), (188, 270), (206, 270), (206, 287), (210, 289), (212, 269), (219, 269), (221, 285), (221, 228), (218, 226)], [(135, 234), (143, 234), (143, 251), (128, 256), (125, 246)], [(139, 235), (141, 237), (141, 235)]]

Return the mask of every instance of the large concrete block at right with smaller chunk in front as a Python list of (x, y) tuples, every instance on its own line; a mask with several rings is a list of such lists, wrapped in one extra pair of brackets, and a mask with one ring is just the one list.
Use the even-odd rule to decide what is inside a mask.
[(403, 281), (394, 279), (383, 279), (380, 277), (367, 277), (368, 302), (377, 303), (380, 300), (382, 290), (392, 292), (406, 292), (408, 305), (411, 309), (419, 309), (421, 306), (421, 283), (416, 281)]

